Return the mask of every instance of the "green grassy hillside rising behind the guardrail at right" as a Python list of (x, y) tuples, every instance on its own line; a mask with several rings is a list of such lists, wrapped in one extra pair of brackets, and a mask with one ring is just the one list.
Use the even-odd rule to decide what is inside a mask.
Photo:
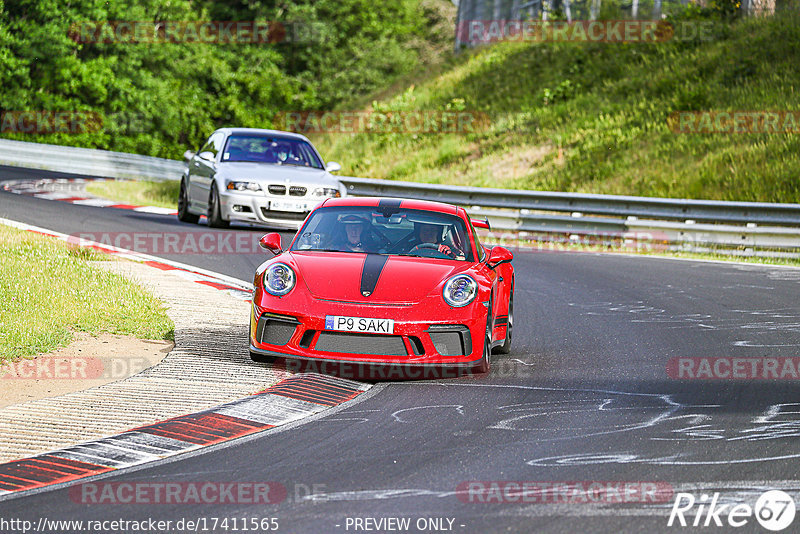
[(800, 202), (800, 134), (675, 134), (686, 110), (800, 110), (800, 16), (704, 21), (711, 41), (500, 43), (374, 102), (487, 113), (484, 131), (328, 134), (342, 175), (512, 189)]

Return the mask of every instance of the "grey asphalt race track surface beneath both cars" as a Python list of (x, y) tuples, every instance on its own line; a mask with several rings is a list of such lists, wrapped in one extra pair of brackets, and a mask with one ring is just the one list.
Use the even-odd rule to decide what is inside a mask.
[[(0, 168), (0, 180), (30, 176), (54, 175)], [(0, 217), (67, 234), (205, 231), (169, 216), (2, 192)], [(169, 259), (250, 280), (265, 257)], [(302, 424), (102, 480), (277, 482), (288, 493), (280, 503), (87, 505), (55, 489), (0, 502), (0, 517), (205, 518), (207, 532), (232, 531), (212, 530), (210, 518), (277, 518), (278, 532), (378, 525), (356, 521), (364, 518), (409, 518), (410, 532), (664, 532), (703, 530), (667, 526), (678, 492), (698, 500), (718, 492), (719, 505), (753, 505), (769, 489), (800, 497), (797, 380), (668, 374), (678, 358), (797, 356), (800, 270), (544, 252), (520, 252), (514, 265), (513, 351), (495, 355), (488, 376), (379, 383), (360, 402)], [(476, 490), (508, 481), (627, 482), (666, 493), (513, 502), (519, 492)], [(705, 530), (720, 530), (710, 521)], [(766, 531), (755, 517), (737, 530)]]

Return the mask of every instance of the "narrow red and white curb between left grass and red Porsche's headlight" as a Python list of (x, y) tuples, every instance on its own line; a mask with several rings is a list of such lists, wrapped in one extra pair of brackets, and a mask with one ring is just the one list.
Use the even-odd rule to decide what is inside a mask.
[(98, 243), (96, 241), (88, 241), (85, 239), (80, 239), (75, 236), (54, 232), (46, 228), (40, 228), (38, 226), (32, 226), (30, 224), (12, 221), (10, 219), (0, 218), (0, 224), (4, 224), (6, 226), (11, 226), (13, 228), (17, 228), (19, 230), (25, 230), (35, 234), (54, 237), (56, 239), (59, 239), (61, 241), (66, 241), (67, 243), (73, 245), (92, 248), (94, 250), (103, 252), (105, 254), (111, 254), (118, 258), (125, 258), (132, 261), (142, 262), (145, 263), (146, 265), (149, 265), (151, 267), (156, 267), (163, 271), (174, 271), (175, 274), (186, 280), (198, 284), (203, 284), (205, 286), (213, 287), (214, 289), (219, 289), (220, 291), (225, 291), (231, 296), (241, 300), (250, 300), (253, 295), (253, 284), (221, 273), (207, 271), (205, 269), (200, 269), (191, 265), (187, 265), (185, 263), (166, 260), (163, 258), (158, 258), (156, 256), (150, 256), (149, 254), (142, 254), (140, 252), (134, 252), (128, 249), (119, 248), (104, 243)]

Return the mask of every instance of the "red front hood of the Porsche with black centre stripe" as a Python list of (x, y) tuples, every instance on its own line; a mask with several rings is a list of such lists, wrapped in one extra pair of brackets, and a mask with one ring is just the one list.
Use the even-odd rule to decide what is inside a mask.
[[(347, 252), (293, 252), (300, 276), (318, 299), (367, 303), (416, 303), (438, 291), (446, 278), (464, 271), (467, 262)], [(385, 263), (383, 261), (385, 260)], [(377, 276), (369, 296), (361, 293), (364, 277)], [(369, 283), (368, 286), (371, 287)]]

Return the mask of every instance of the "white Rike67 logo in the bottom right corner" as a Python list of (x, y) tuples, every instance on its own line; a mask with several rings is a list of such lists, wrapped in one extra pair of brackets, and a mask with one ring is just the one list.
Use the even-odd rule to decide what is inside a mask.
[(691, 493), (678, 493), (675, 495), (667, 526), (738, 528), (748, 524), (755, 516), (762, 527), (777, 532), (791, 525), (794, 515), (794, 499), (779, 490), (763, 493), (754, 507), (746, 503), (733, 506), (730, 503), (720, 504), (719, 493), (714, 493), (710, 498), (707, 494), (702, 494), (699, 499)]

